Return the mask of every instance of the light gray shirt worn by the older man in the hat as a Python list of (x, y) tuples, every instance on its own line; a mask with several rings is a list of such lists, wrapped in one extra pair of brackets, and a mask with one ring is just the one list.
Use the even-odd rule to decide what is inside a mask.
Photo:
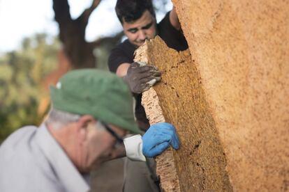
[(23, 127), (0, 146), (0, 191), (89, 191), (45, 125)]

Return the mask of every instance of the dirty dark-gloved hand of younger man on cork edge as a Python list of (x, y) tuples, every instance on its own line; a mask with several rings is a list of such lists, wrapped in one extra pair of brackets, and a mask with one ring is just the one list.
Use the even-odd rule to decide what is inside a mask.
[(156, 67), (149, 65), (140, 66), (140, 63), (136, 62), (131, 63), (124, 77), (124, 81), (128, 83), (133, 93), (142, 93), (160, 80), (161, 72)]

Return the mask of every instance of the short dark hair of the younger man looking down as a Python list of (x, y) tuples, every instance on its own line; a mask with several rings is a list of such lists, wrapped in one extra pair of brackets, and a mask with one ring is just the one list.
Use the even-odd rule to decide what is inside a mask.
[(149, 13), (156, 17), (151, 0), (117, 0), (117, 5), (115, 6), (115, 12), (121, 24), (123, 19), (125, 22), (133, 22), (140, 19), (145, 10), (149, 10)]

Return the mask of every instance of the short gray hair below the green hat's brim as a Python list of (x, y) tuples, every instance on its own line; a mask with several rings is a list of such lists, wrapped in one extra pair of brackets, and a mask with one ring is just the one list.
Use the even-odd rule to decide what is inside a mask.
[(79, 120), (81, 115), (68, 113), (65, 111), (59, 111), (57, 109), (50, 109), (47, 115), (46, 122), (54, 127), (54, 129), (59, 129), (70, 122), (76, 122)]

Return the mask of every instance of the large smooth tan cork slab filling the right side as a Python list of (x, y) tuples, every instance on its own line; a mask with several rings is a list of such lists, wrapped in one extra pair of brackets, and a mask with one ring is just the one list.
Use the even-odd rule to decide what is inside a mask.
[(236, 191), (289, 190), (289, 1), (173, 0)]

